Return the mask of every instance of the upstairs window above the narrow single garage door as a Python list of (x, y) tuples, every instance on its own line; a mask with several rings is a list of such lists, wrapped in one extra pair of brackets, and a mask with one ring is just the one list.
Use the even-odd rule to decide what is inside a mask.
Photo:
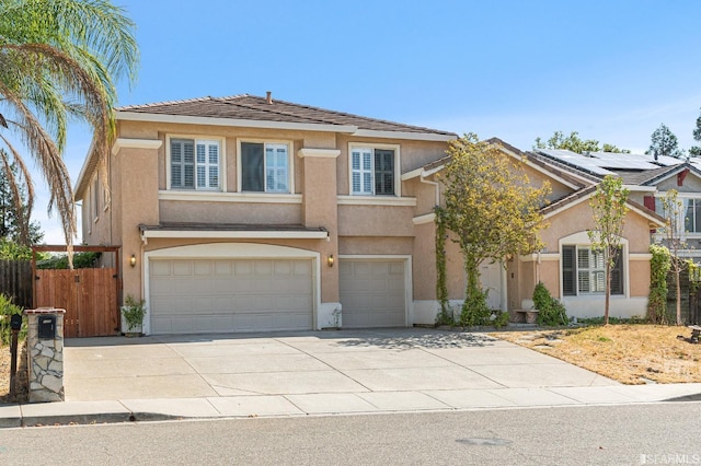
[(350, 149), (352, 194), (374, 196), (397, 194), (394, 149), (353, 147)]

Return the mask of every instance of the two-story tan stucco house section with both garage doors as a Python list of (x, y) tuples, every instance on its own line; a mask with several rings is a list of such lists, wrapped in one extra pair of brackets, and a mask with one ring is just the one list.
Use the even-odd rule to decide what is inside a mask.
[(122, 107), (76, 186), (83, 241), (122, 246), (147, 334), (433, 324), (424, 166), (456, 137), (269, 94)]

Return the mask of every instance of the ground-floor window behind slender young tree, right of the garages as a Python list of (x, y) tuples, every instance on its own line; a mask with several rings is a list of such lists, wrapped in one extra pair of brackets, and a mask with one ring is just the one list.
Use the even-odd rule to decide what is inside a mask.
[[(611, 269), (611, 294), (623, 294), (622, 252)], [(589, 246), (562, 247), (562, 293), (565, 296), (606, 293), (604, 252)]]

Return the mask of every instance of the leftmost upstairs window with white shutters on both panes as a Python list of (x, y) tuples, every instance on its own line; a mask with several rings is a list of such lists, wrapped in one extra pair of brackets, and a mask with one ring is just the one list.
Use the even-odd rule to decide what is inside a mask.
[(171, 189), (220, 189), (217, 140), (171, 139)]

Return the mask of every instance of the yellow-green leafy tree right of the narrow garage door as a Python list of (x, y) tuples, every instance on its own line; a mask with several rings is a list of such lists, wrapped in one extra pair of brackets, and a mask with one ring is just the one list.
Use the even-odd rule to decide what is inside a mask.
[(550, 186), (535, 188), (519, 163), (470, 133), (450, 142), (450, 162), (439, 174), (445, 207), (437, 221), (455, 233), (467, 273), (462, 325), (489, 324), (491, 310), (480, 283), (480, 265), (540, 248), (540, 208)]

